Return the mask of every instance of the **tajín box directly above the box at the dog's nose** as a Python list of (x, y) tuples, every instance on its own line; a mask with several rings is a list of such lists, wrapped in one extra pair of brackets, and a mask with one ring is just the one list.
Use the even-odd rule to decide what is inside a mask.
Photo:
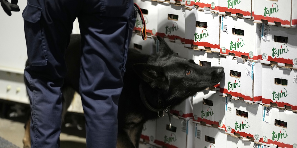
[(221, 54), (260, 62), (260, 29), (252, 20), (221, 16)]

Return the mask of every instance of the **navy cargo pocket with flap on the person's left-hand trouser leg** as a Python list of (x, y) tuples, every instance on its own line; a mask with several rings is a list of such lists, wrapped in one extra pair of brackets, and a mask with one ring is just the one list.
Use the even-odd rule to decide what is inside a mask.
[(30, 66), (46, 65), (47, 50), (40, 23), (42, 8), (27, 4), (23, 11), (28, 62)]

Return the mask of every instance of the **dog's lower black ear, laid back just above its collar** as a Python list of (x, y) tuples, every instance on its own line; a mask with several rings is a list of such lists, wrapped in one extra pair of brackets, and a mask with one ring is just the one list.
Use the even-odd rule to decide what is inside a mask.
[(169, 89), (169, 81), (162, 72), (160, 66), (154, 66), (149, 64), (134, 64), (133, 70), (139, 75), (139, 77), (147, 82), (152, 88), (159, 88), (162, 90)]

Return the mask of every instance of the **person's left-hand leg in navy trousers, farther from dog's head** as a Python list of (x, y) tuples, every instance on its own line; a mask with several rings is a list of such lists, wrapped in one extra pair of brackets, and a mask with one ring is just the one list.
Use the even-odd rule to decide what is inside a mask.
[(29, 66), (24, 76), (31, 106), (31, 147), (58, 148), (64, 52), (80, 1), (28, 0), (23, 12)]

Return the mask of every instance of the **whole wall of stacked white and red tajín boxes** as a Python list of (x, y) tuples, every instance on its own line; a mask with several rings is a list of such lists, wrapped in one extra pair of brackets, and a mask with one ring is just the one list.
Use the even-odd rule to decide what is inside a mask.
[[(201, 66), (224, 67), (225, 72), (218, 85), (171, 110), (176, 130), (168, 129), (167, 115), (152, 123), (156, 136), (154, 141), (143, 138), (147, 143), (175, 148), (297, 148), (296, 1), (136, 1), (154, 11), (146, 14), (154, 15), (148, 21), (154, 23), (149, 35), (165, 38), (181, 57)], [(142, 43), (142, 48), (149, 47), (146, 53), (157, 53), (158, 41), (149, 44), (157, 49)]]

